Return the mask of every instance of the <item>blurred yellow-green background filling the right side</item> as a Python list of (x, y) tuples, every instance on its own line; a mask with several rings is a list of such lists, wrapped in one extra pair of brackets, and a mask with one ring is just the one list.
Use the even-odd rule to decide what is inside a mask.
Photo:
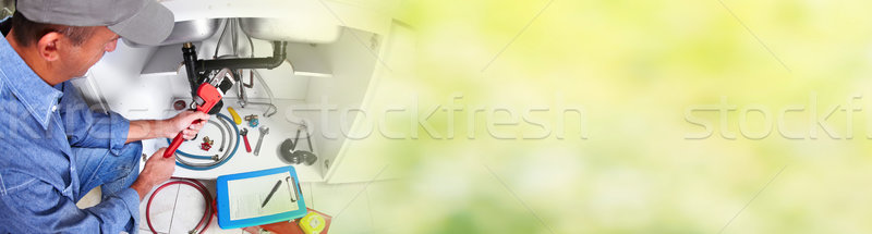
[[(475, 107), (550, 107), (537, 118), (552, 132), (495, 139), (485, 120), (451, 125), (437, 114), (434, 128), (453, 128), (455, 138), (419, 128), (419, 139), (367, 140), (404, 175), (373, 198), (375, 215), (388, 217), (391, 233), (868, 233), (869, 9), (816, 0), (405, 2), (399, 19), (417, 46), (415, 75), (393, 81), (403, 94), (419, 106), (462, 95), (458, 119)], [(726, 121), (692, 112), (714, 128), (687, 139), (705, 132), (688, 110), (722, 98), (736, 110)], [(396, 103), (405, 102), (376, 99), (373, 108)], [(583, 120), (568, 114), (558, 139), (561, 106), (580, 107)], [(471, 123), (474, 139), (465, 137)], [(736, 139), (722, 136), (722, 123)], [(542, 133), (523, 122), (495, 130)]]

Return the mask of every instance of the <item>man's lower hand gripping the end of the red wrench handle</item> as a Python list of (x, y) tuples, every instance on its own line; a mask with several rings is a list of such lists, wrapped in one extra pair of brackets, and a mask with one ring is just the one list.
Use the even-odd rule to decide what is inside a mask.
[(140, 172), (140, 177), (130, 186), (140, 194), (140, 200), (143, 200), (153, 187), (170, 180), (172, 172), (175, 171), (175, 153), (172, 157), (164, 158), (166, 149), (158, 149), (148, 158), (148, 161), (145, 161), (145, 168)]

